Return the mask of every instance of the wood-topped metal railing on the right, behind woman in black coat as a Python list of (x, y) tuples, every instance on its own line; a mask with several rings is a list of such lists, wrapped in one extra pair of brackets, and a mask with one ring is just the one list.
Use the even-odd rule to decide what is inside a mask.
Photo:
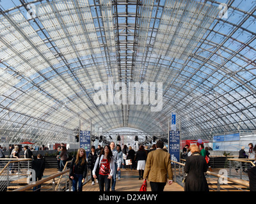
[[(173, 164), (173, 180), (184, 187), (184, 163), (172, 161)], [(211, 171), (205, 172), (210, 191), (248, 191), (249, 182), (242, 179), (230, 178), (221, 173)]]

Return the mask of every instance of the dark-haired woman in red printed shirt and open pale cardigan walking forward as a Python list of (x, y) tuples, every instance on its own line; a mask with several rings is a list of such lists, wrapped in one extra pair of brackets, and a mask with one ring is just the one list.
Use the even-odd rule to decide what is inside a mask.
[(92, 171), (94, 179), (97, 178), (96, 170), (98, 165), (99, 165), (98, 182), (99, 182), (100, 191), (104, 191), (104, 185), (105, 185), (105, 191), (109, 191), (111, 178), (113, 177), (113, 173), (115, 171), (115, 162), (114, 162), (112, 151), (109, 145), (106, 145), (104, 147), (103, 151), (100, 153), (100, 156), (97, 158), (97, 161), (95, 162), (95, 166)]

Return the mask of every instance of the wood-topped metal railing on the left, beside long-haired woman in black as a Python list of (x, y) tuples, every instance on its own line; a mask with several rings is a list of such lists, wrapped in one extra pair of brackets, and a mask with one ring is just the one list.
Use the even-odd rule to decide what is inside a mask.
[[(0, 159), (0, 191), (72, 191), (67, 161), (63, 171), (54, 173), (42, 180), (33, 182), (31, 178), (31, 159)], [(91, 179), (87, 172), (86, 182)], [(26, 186), (19, 186), (23, 184)]]

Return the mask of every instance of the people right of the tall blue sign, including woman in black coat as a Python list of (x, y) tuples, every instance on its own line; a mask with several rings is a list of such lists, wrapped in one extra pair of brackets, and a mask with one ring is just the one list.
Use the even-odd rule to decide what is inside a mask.
[[(253, 147), (253, 143), (248, 144), (248, 155), (245, 152), (245, 147), (242, 146), (239, 150), (239, 159), (253, 159), (253, 163), (256, 164), (256, 146)], [(187, 173), (184, 179), (184, 191), (209, 191), (207, 180), (205, 179), (205, 172), (207, 170), (212, 171), (209, 163), (209, 147), (200, 145), (185, 145), (182, 149), (182, 158), (186, 159), (184, 171)], [(248, 164), (248, 163), (247, 163)], [(246, 166), (248, 170), (246, 170)], [(248, 173), (250, 191), (256, 191), (256, 166), (252, 164), (246, 165), (245, 162), (241, 162), (241, 165), (237, 166), (236, 171), (239, 168), (243, 169), (244, 173)], [(238, 172), (238, 171), (237, 171)]]

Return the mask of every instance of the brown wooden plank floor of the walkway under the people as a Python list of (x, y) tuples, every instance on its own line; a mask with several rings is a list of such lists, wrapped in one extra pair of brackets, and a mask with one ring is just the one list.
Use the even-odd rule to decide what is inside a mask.
[[(139, 180), (138, 170), (123, 170), (121, 169), (121, 180), (116, 180), (116, 191), (140, 191), (143, 180)], [(92, 186), (92, 181), (83, 186), (83, 191), (99, 191), (99, 184), (95, 182)], [(147, 191), (151, 191), (148, 183)], [(184, 191), (184, 188), (173, 182), (172, 185), (166, 185), (164, 191)]]

